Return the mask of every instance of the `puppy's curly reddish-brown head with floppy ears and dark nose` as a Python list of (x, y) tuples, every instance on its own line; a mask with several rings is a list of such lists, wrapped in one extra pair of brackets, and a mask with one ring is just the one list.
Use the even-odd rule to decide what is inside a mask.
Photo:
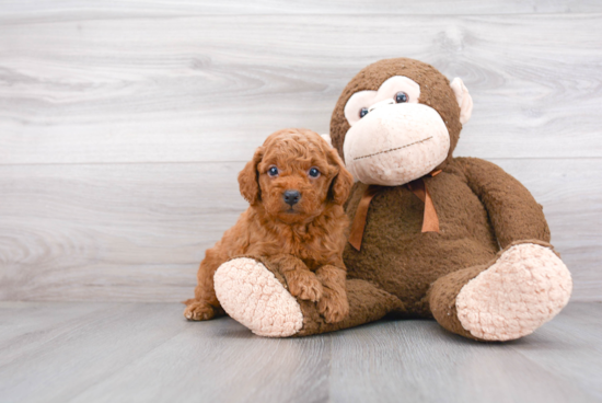
[(270, 135), (239, 174), (252, 206), (287, 223), (310, 221), (328, 205), (343, 205), (354, 184), (335, 149), (305, 129)]

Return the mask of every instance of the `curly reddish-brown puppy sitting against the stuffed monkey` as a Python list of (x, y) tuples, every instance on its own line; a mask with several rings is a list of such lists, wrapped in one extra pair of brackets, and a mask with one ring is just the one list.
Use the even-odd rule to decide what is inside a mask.
[(337, 152), (303, 129), (269, 136), (239, 174), (241, 194), (251, 204), (234, 227), (206, 252), (195, 298), (184, 316), (223, 315), (213, 274), (236, 256), (256, 256), (282, 270), (292, 296), (317, 302), (328, 323), (349, 311), (343, 250), (348, 219), (343, 209), (354, 179)]

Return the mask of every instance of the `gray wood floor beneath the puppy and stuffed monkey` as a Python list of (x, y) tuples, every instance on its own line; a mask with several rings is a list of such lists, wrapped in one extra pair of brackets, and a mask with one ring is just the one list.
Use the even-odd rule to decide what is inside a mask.
[(299, 339), (176, 303), (0, 302), (2, 402), (600, 402), (602, 303), (477, 343), (433, 321)]

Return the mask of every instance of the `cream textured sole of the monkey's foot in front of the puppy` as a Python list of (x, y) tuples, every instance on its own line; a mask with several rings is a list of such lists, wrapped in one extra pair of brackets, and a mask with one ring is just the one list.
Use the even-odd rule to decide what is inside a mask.
[(303, 326), (297, 299), (262, 263), (239, 257), (213, 276), (216, 295), (225, 312), (258, 336), (288, 337)]

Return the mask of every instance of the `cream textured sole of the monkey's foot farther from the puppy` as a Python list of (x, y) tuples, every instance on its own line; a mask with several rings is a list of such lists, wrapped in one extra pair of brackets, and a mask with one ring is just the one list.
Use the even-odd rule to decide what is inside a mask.
[(570, 273), (551, 249), (519, 244), (462, 287), (458, 319), (486, 341), (519, 338), (560, 312), (571, 289)]

